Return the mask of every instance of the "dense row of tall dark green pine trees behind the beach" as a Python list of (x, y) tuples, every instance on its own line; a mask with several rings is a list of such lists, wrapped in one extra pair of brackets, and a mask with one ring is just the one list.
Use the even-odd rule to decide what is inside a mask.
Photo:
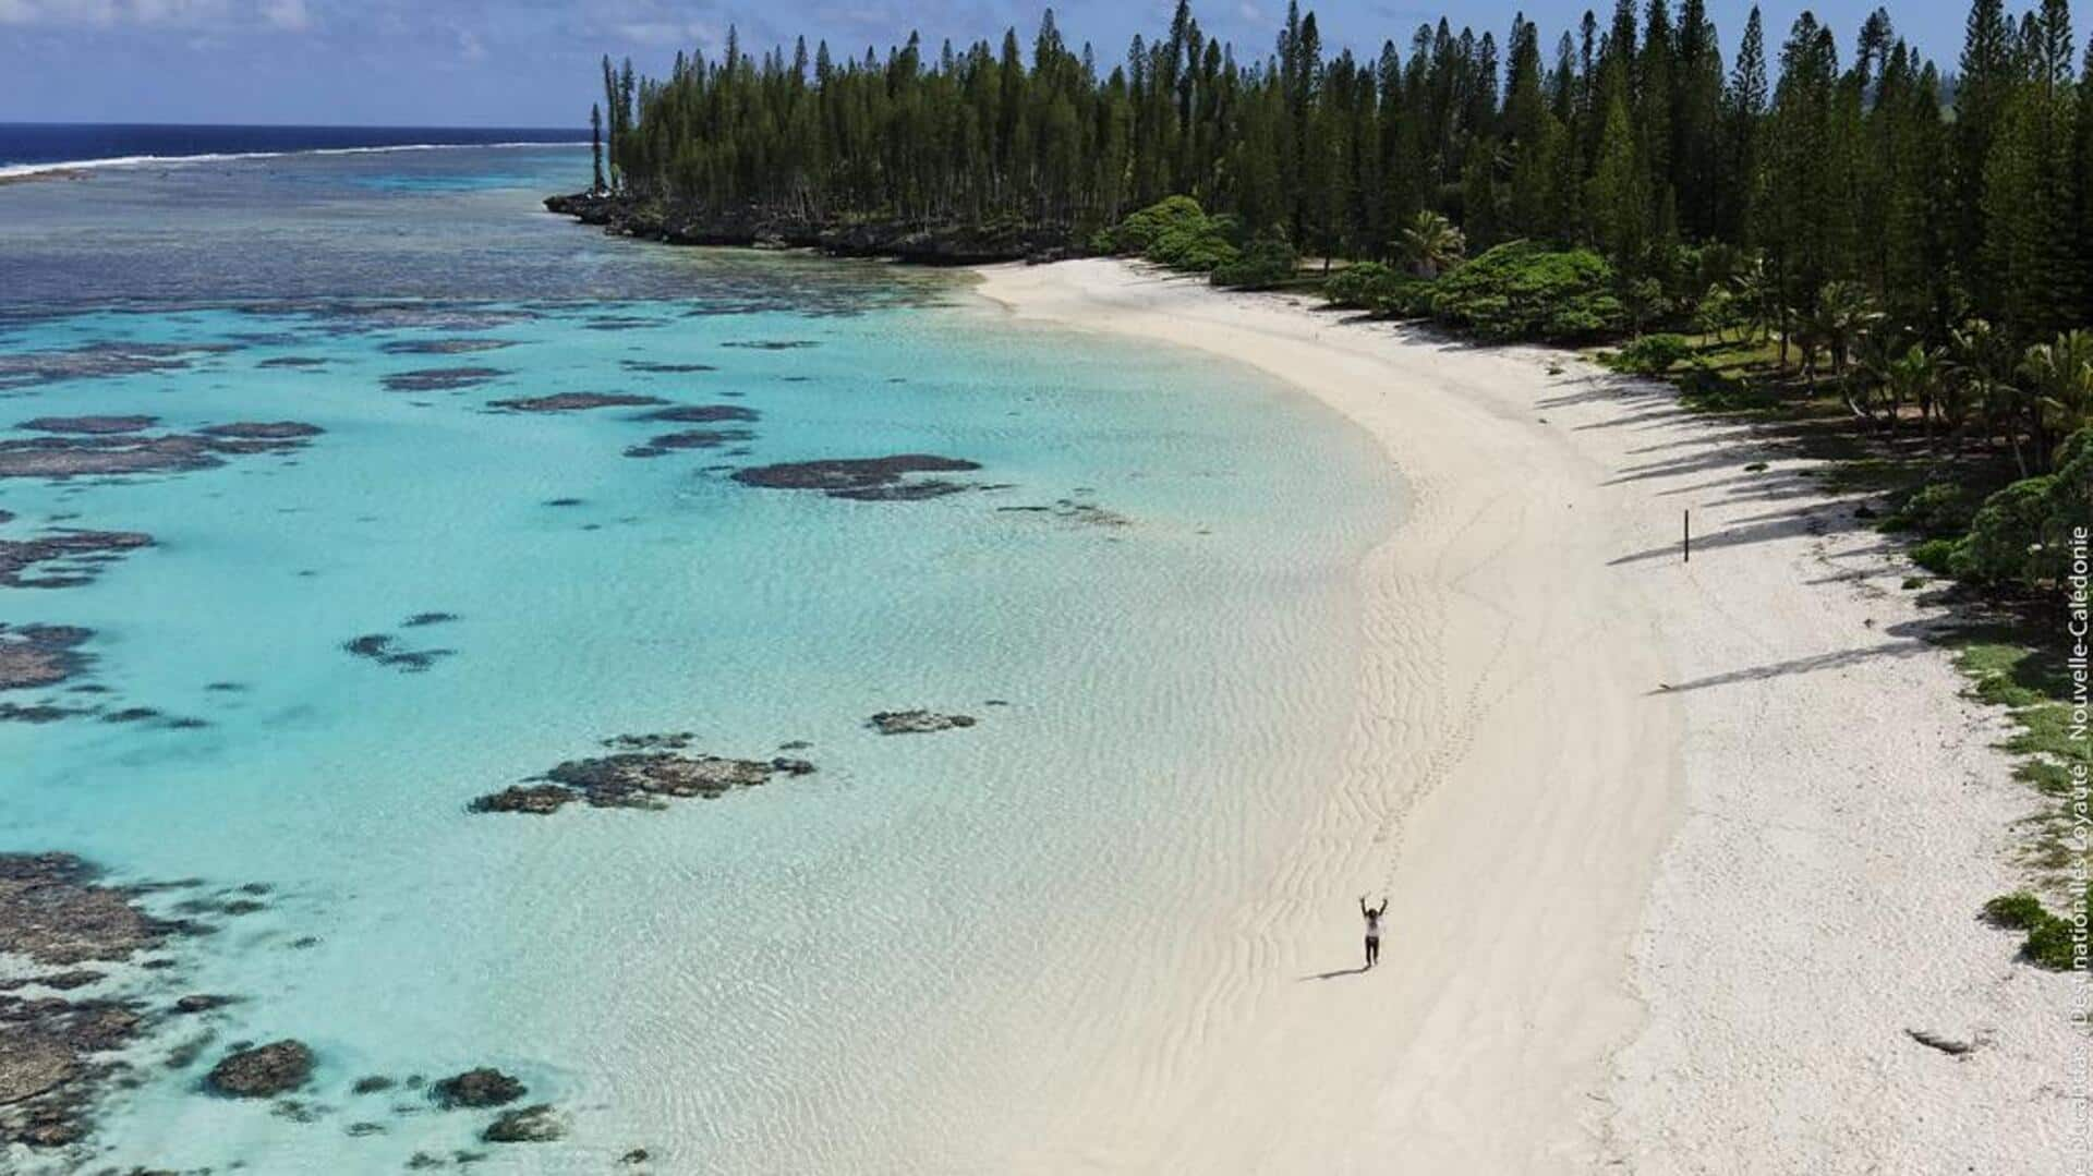
[[(2093, 320), (2093, 44), (2068, 0), (1974, 0), (1953, 77), (1886, 10), (1850, 54), (1804, 13), (1769, 59), (1704, 0), (1620, 0), (1545, 46), (1442, 19), (1373, 59), (1327, 54), (1289, 6), (1243, 61), (1180, 2), (1105, 71), (1049, 10), (1030, 56), (917, 36), (883, 59), (678, 54), (663, 80), (603, 63), (607, 182), (638, 199), (818, 222), (1021, 220), (1074, 239), (1168, 195), (1325, 257), (1383, 257), (1419, 211), (1473, 249), (1591, 245), (1628, 278), (1760, 257), (1806, 306), (1863, 287), (1921, 333), (1982, 316), (2018, 341)], [(1687, 266), (1691, 268), (1691, 266)]]

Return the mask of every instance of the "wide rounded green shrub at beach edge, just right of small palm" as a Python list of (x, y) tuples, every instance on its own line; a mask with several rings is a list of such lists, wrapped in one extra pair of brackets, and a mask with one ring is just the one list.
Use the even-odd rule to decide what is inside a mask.
[(1509, 241), (1438, 278), (1432, 314), (1490, 341), (1578, 341), (1626, 322), (1614, 285), (1591, 249)]

